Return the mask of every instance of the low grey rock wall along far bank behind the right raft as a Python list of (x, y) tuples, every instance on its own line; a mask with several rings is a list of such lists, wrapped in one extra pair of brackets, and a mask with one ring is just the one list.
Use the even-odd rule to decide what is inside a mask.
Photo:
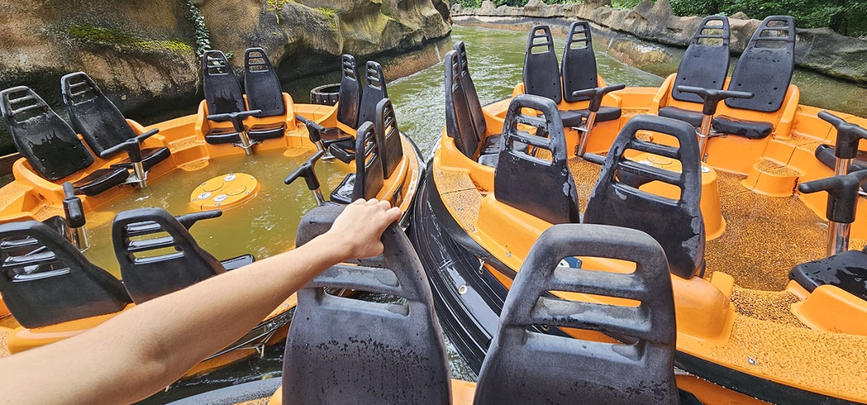
[[(603, 27), (623, 31), (641, 39), (668, 45), (686, 47), (689, 39), (701, 23), (701, 17), (675, 16), (668, 0), (642, 0), (633, 10), (611, 8), (610, 0), (588, 0), (581, 4), (544, 4), (531, 0), (523, 8), (496, 7), (486, 0), (478, 9), (453, 10), (460, 22), (467, 18), (502, 18), (505, 24), (514, 23), (514, 18), (557, 19), (572, 21), (587, 20)], [(544, 23), (545, 20), (538, 20)], [(486, 18), (486, 23), (495, 23)], [(759, 20), (746, 19), (743, 13), (729, 17), (732, 29), (731, 49), (740, 54), (749, 42)], [(798, 29), (798, 44), (795, 47), (795, 64), (843, 80), (867, 85), (867, 41), (838, 35), (830, 29)]]

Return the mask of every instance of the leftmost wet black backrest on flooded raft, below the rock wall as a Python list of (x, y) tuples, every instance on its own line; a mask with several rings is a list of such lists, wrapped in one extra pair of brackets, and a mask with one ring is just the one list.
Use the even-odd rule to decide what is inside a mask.
[(94, 163), (75, 131), (29, 87), (7, 88), (0, 99), (12, 141), (40, 176), (60, 180)]

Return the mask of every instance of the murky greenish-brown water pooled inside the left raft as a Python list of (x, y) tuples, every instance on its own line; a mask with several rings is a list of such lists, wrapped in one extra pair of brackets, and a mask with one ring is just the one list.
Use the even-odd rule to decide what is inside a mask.
[[(312, 154), (312, 150), (310, 151)], [(147, 182), (147, 188), (134, 190), (88, 212), (88, 236), (91, 247), (88, 260), (120, 276), (111, 243), (114, 215), (127, 209), (161, 207), (172, 215), (198, 212), (190, 205), (190, 195), (200, 183), (221, 175), (245, 173), (259, 182), (257, 195), (242, 205), (226, 209), (218, 218), (197, 222), (190, 233), (206, 251), (220, 260), (241, 254), (264, 259), (289, 250), (301, 216), (316, 207), (310, 190), (303, 182), (285, 185), (288, 176), (307, 156), (286, 157), (283, 150), (263, 151), (251, 156), (218, 157), (200, 170), (173, 170)], [(349, 166), (336, 160), (320, 161), (316, 172), (323, 183), (323, 193), (340, 183)], [(327, 195), (327, 194), (326, 194)]]

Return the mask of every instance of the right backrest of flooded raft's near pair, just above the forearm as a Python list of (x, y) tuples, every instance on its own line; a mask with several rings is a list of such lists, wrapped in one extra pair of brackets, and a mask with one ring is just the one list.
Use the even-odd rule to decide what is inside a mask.
[(136, 304), (225, 273), (165, 209), (122, 211), (114, 217), (112, 241), (121, 279)]

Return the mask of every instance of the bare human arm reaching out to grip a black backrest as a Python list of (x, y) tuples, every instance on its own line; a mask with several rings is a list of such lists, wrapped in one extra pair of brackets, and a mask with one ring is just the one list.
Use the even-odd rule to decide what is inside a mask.
[(130, 403), (164, 389), (257, 325), (316, 274), (382, 253), (400, 209), (349, 204), (294, 250), (147, 301), (55, 344), (0, 359), (0, 403)]

